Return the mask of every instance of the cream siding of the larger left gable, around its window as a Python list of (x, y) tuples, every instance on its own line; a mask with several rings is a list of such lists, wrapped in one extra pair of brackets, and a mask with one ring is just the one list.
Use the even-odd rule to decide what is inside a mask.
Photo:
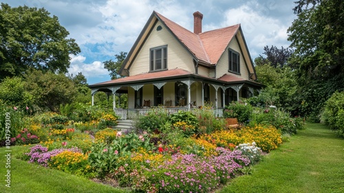
[[(162, 26), (162, 30), (157, 31), (156, 28)], [(193, 57), (186, 48), (167, 30), (164, 25), (158, 21), (153, 26), (153, 30), (142, 45), (136, 59), (133, 61), (129, 74), (130, 76), (149, 72), (149, 49), (167, 45), (167, 68), (169, 70), (182, 68), (189, 72), (195, 73), (193, 65)]]

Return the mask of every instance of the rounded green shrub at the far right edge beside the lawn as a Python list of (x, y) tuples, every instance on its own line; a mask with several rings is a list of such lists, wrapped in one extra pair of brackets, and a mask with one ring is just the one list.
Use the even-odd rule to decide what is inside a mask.
[(326, 101), (321, 119), (332, 130), (337, 130), (338, 136), (344, 137), (344, 92), (334, 92)]

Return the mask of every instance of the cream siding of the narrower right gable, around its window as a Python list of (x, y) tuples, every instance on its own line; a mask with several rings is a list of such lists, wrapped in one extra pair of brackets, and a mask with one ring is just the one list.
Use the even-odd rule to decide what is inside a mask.
[[(240, 54), (240, 75), (228, 72), (228, 48), (239, 52)], [(243, 79), (249, 79), (249, 72), (246, 68), (246, 63), (244, 60), (244, 55), (241, 53), (239, 44), (237, 43), (237, 37), (233, 37), (230, 41), (228, 47), (222, 57), (219, 59), (219, 63), (217, 63), (216, 67), (216, 78), (222, 77), (224, 74), (231, 74), (237, 77), (242, 77)]]

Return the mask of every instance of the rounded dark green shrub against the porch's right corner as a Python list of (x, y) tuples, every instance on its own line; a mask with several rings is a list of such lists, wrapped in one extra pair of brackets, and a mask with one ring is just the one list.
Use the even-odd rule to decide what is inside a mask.
[(245, 123), (252, 114), (252, 105), (243, 101), (235, 101), (224, 109), (225, 118), (237, 118), (239, 123)]

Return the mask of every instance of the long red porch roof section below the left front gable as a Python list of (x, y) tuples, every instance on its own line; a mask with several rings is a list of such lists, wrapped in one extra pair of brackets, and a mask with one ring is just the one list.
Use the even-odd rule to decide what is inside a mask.
[(146, 72), (142, 74), (136, 74), (134, 76), (124, 77), (121, 79), (114, 79), (114, 80), (106, 81), (103, 83), (96, 83), (94, 85), (107, 85), (111, 83), (125, 83), (125, 82), (131, 82), (131, 81), (142, 81), (142, 80), (159, 79), (159, 78), (166, 78), (166, 77), (177, 77), (177, 76), (182, 76), (186, 74), (192, 74), (192, 73), (186, 70), (182, 70), (180, 68), (176, 68), (173, 70), (164, 70), (164, 71), (159, 71), (159, 72)]

